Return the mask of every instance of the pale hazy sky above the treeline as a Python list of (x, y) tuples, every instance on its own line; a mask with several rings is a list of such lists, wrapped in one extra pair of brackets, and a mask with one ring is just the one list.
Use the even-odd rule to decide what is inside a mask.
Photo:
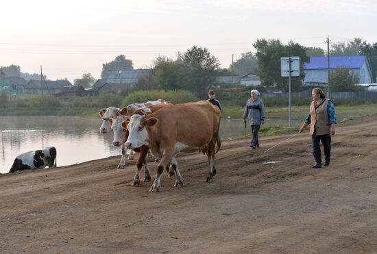
[(149, 68), (198, 45), (228, 68), (262, 38), (377, 42), (376, 18), (374, 0), (0, 0), (0, 66), (73, 83), (117, 55)]

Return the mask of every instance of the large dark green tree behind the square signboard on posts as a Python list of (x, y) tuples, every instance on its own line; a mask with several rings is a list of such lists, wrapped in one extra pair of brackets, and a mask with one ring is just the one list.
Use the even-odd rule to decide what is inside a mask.
[(277, 85), (283, 90), (288, 90), (288, 78), (281, 77), (280, 58), (284, 56), (300, 57), (300, 76), (292, 78), (292, 91), (302, 90), (304, 80), (304, 62), (309, 61), (306, 55), (306, 48), (290, 41), (288, 45), (282, 45), (280, 40), (256, 40), (254, 43), (256, 58), (258, 60), (258, 75), (263, 86), (271, 87)]

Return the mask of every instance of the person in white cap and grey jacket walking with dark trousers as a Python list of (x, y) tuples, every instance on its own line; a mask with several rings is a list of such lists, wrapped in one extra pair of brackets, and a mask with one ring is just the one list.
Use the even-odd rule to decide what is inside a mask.
[(243, 122), (246, 127), (246, 119), (249, 120), (252, 127), (252, 142), (250, 147), (256, 149), (259, 147), (258, 132), (260, 125), (265, 123), (266, 110), (263, 101), (259, 99), (259, 92), (256, 89), (250, 91), (250, 99), (246, 102), (245, 112), (243, 112)]

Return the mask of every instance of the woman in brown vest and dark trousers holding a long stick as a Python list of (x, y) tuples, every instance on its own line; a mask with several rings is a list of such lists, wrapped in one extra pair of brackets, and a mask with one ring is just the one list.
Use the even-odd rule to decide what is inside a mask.
[(311, 126), (311, 136), (313, 143), (313, 155), (315, 164), (313, 168), (321, 168), (321, 147), (319, 142), (324, 144), (325, 166), (330, 165), (331, 155), (331, 136), (335, 135), (335, 125), (337, 124), (337, 115), (332, 101), (325, 98), (324, 92), (320, 88), (312, 90), (313, 101), (309, 108), (308, 117), (299, 133), (304, 131), (306, 126)]

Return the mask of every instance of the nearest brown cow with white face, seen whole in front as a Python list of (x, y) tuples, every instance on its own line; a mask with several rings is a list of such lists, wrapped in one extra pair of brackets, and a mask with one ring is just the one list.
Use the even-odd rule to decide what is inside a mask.
[(198, 101), (165, 107), (148, 116), (135, 114), (130, 121), (122, 123), (123, 128), (130, 131), (125, 142), (127, 148), (135, 149), (145, 145), (160, 158), (157, 176), (149, 192), (158, 192), (161, 174), (169, 162), (175, 170), (174, 186), (183, 185), (175, 159), (175, 155), (180, 151), (206, 153), (209, 164), (206, 181), (212, 181), (216, 172), (213, 166), (215, 153), (221, 146), (220, 120), (221, 112), (218, 107), (208, 101)]

